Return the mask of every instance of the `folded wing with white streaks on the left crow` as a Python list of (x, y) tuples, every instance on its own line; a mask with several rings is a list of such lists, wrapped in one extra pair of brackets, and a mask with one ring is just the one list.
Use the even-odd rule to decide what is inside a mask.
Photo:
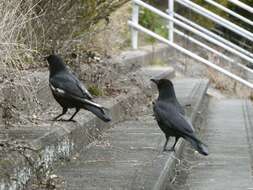
[(60, 72), (49, 79), (50, 87), (58, 94), (71, 95), (77, 98), (92, 99), (88, 90), (71, 73)]

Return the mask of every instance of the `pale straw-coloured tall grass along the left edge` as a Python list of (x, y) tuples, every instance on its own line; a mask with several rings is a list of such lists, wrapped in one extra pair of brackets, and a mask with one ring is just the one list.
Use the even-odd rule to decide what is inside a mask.
[(4, 119), (16, 115), (11, 97), (19, 96), (17, 89), (21, 90), (28, 110), (29, 102), (36, 98), (33, 86), (24, 79), (22, 71), (35, 64), (35, 57), (38, 57), (37, 36), (31, 24), (32, 21), (40, 24), (39, 15), (35, 14), (36, 6), (32, 0), (0, 1), (0, 82), (4, 94), (1, 102)]

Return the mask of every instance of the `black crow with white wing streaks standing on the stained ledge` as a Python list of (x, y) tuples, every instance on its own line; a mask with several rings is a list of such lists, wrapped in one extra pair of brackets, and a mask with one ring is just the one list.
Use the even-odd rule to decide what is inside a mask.
[(55, 100), (61, 105), (62, 113), (54, 120), (64, 115), (68, 108), (75, 108), (75, 113), (68, 121), (73, 121), (81, 108), (86, 109), (105, 122), (111, 119), (105, 113), (105, 108), (92, 101), (92, 96), (81, 82), (68, 71), (63, 60), (57, 55), (46, 57), (49, 63), (49, 86)]

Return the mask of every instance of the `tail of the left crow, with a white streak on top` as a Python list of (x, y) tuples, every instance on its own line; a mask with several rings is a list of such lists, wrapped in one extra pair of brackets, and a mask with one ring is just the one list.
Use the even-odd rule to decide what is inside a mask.
[(105, 112), (106, 109), (100, 106), (99, 104), (96, 104), (92, 101), (87, 101), (84, 104), (84, 108), (94, 113), (98, 118), (100, 118), (104, 122), (111, 121), (111, 117), (108, 115), (108, 113)]

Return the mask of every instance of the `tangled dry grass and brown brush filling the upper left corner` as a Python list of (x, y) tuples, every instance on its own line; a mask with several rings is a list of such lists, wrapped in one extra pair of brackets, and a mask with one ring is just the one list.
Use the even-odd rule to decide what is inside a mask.
[[(37, 104), (37, 86), (24, 77), (26, 69), (46, 64), (41, 57), (52, 51), (65, 55), (65, 59), (72, 53), (82, 55), (90, 49), (108, 49), (112, 44), (107, 40), (110, 33), (107, 18), (127, 1), (0, 0), (0, 88), (3, 89), (0, 107), (4, 120), (13, 117), (17, 120), (20, 115), (29, 120), (41, 109)], [(103, 33), (105, 30), (108, 32)], [(102, 40), (97, 44), (99, 47), (92, 47), (96, 43), (90, 39), (98, 33), (101, 35), (96, 36)], [(22, 109), (15, 107), (18, 104), (22, 104)]]

